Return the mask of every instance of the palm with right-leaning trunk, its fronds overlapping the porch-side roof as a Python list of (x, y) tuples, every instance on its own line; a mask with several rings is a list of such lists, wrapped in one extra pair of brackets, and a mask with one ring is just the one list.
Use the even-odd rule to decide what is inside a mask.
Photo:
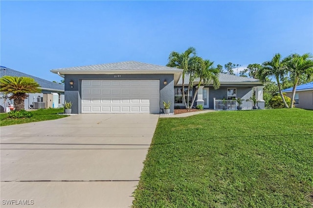
[[(201, 58), (199, 58), (201, 59)], [(196, 100), (196, 95), (199, 91), (199, 88), (201, 86), (201, 83), (209, 84), (213, 83), (214, 89), (220, 88), (220, 80), (219, 80), (219, 74), (220, 70), (219, 68), (214, 67), (214, 62), (211, 62), (210, 60), (198, 60), (198, 64), (200, 67), (196, 68), (195, 71), (195, 78), (199, 78), (198, 87), (194, 93), (191, 106), (194, 104)]]

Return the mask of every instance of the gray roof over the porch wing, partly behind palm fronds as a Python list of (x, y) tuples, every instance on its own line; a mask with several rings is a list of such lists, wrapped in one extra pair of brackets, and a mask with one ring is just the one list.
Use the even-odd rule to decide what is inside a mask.
[[(189, 75), (185, 75), (185, 83), (189, 83)], [(229, 74), (219, 74), (219, 80), (221, 84), (262, 84), (259, 80), (248, 78), (248, 77), (238, 77)], [(194, 84), (199, 83), (199, 78), (194, 81)], [(178, 85), (182, 84), (182, 77), (180, 77)]]

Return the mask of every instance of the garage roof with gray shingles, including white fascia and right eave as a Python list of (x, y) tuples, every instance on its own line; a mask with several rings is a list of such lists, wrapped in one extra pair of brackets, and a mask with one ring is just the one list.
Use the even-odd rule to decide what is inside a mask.
[(178, 82), (182, 70), (168, 66), (143, 62), (117, 62), (88, 66), (75, 66), (50, 70), (56, 74), (174, 74), (175, 83)]

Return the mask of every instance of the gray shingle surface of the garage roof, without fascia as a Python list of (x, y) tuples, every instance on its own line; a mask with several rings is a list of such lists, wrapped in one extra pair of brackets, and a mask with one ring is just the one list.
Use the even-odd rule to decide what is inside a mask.
[(142, 63), (142, 62), (117, 62), (117, 63), (104, 63), (104, 64), (97, 64), (97, 65), (88, 65), (88, 66), (76, 66), (76, 67), (68, 67), (68, 68), (59, 68), (59, 69), (52, 69), (52, 72), (57, 71), (86, 71), (86, 70), (142, 70), (142, 71), (150, 71), (150, 70), (177, 70), (180, 69), (172, 68), (168, 66), (161, 66), (155, 65), (150, 63)]

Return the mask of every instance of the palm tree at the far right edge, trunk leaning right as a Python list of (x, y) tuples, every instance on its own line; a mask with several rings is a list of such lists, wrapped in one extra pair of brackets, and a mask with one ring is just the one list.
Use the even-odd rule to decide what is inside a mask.
[(293, 81), (292, 97), (290, 103), (290, 107), (292, 108), (295, 90), (299, 83), (300, 76), (306, 76), (307, 80), (310, 80), (313, 77), (313, 56), (310, 53), (305, 53), (302, 56), (299, 54), (291, 54), (289, 58), (290, 62), (288, 64), (288, 69), (290, 72), (290, 77)]

